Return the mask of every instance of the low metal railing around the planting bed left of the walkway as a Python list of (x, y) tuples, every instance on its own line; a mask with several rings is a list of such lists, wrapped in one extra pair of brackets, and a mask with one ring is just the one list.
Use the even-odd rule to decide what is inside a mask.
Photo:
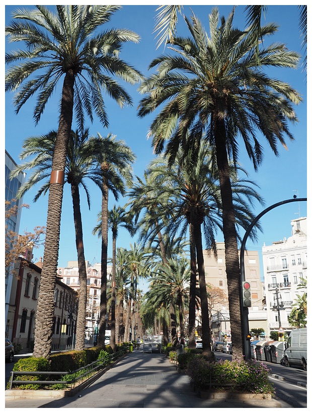
[[(126, 353), (126, 350), (120, 350), (119, 352), (96, 360), (87, 366), (73, 371), (12, 371), (10, 380), (10, 390), (14, 385), (24, 384), (42, 384), (42, 385), (66, 385), (69, 388), (74, 388), (77, 383), (83, 382), (84, 379), (94, 376), (98, 371), (103, 370), (105, 367), (112, 364)], [(18, 376), (39, 376), (40, 378), (46, 377), (46, 380), (18, 380)], [(49, 380), (50, 376), (56, 376), (55, 380)], [(64, 380), (64, 377), (68, 377)], [(68, 387), (67, 387), (68, 388)]]

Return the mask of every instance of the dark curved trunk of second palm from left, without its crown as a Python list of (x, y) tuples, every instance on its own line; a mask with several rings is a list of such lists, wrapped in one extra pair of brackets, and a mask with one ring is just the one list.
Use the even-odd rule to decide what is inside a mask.
[(87, 308), (87, 269), (83, 242), (83, 223), (80, 210), (79, 188), (71, 183), (71, 196), (73, 205), (73, 221), (75, 227), (78, 271), (79, 271), (79, 304), (77, 314), (75, 350), (85, 348), (85, 325)]

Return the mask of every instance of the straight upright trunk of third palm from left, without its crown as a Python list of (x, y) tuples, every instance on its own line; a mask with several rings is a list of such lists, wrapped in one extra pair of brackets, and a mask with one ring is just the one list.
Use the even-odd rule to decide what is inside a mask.
[(108, 186), (103, 178), (102, 195), (102, 253), (101, 253), (101, 304), (99, 322), (99, 346), (105, 348), (107, 314), (107, 248), (108, 248)]

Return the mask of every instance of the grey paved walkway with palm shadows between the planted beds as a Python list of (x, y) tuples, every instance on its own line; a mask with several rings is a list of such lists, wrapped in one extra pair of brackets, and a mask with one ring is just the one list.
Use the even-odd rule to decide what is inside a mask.
[(134, 350), (73, 397), (8, 400), (6, 408), (250, 408), (278, 407), (274, 401), (201, 399), (189, 377), (163, 354)]

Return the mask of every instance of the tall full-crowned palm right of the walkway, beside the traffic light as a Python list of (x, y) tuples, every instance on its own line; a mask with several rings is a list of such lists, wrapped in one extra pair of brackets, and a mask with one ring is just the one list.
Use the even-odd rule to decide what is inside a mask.
[[(185, 18), (189, 38), (175, 37), (173, 54), (150, 63), (156, 73), (144, 80), (139, 90), (146, 96), (139, 104), (143, 117), (164, 106), (152, 121), (149, 136), (155, 153), (165, 151), (173, 164), (179, 148), (195, 160), (199, 142), (209, 143), (217, 165), (222, 202), (222, 227), (229, 294), (233, 357), (242, 358), (240, 265), (235, 211), (229, 173), (229, 158), (238, 162), (238, 136), (255, 169), (263, 159), (257, 134), (263, 134), (273, 152), (284, 136), (293, 140), (288, 121), (296, 122), (293, 104), (301, 101), (288, 84), (264, 73), (269, 66), (296, 68), (299, 55), (274, 43), (257, 55), (253, 36), (233, 28), (234, 12), (219, 24), (214, 8), (209, 15), (210, 36), (200, 21)], [(274, 24), (261, 28), (261, 38), (277, 30)], [(256, 134), (257, 130), (257, 134)], [(168, 141), (168, 142), (167, 142)]]

